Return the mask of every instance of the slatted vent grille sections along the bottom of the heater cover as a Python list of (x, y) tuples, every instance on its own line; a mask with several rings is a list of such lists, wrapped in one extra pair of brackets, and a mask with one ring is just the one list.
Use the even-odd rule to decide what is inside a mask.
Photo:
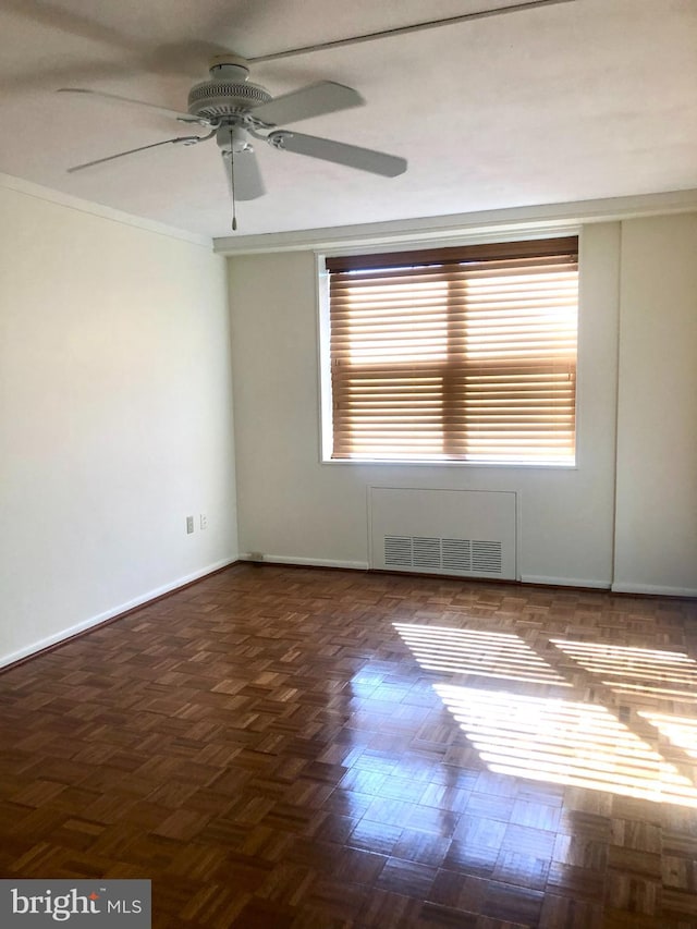
[(493, 575), (503, 570), (500, 541), (441, 539), (436, 536), (386, 536), (384, 566), (453, 574)]

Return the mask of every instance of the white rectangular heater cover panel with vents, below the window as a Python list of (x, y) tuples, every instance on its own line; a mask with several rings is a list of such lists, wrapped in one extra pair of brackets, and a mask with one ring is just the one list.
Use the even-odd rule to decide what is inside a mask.
[(514, 491), (371, 487), (371, 569), (515, 580)]

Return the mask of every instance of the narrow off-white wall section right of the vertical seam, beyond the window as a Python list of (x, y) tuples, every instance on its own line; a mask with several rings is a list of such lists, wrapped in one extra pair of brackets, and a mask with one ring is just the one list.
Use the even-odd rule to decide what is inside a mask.
[(615, 589), (697, 595), (697, 215), (622, 232)]

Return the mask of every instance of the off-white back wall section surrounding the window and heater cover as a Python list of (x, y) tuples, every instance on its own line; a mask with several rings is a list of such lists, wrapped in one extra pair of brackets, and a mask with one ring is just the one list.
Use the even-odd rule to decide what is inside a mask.
[(367, 487), (515, 490), (523, 578), (609, 586), (619, 249), (617, 223), (583, 231), (573, 470), (321, 464), (314, 255), (229, 259), (241, 551), (366, 566)]

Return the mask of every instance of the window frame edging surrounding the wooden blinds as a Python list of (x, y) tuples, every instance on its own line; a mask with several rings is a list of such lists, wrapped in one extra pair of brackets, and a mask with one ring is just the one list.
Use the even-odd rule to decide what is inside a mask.
[[(575, 240), (575, 247), (570, 248), (568, 243)], [(555, 248), (555, 241), (560, 242), (559, 248)], [(353, 465), (353, 466), (389, 466), (389, 467), (465, 467), (465, 468), (541, 468), (553, 470), (574, 470), (578, 467), (578, 438), (579, 438), (579, 383), (578, 372), (580, 367), (579, 358), (579, 339), (580, 339), (580, 294), (582, 294), (582, 269), (580, 269), (580, 245), (582, 230), (580, 228), (564, 227), (563, 229), (545, 229), (539, 232), (528, 233), (525, 231), (512, 232), (508, 235), (493, 239), (491, 236), (467, 237), (465, 240), (451, 240), (442, 245), (430, 247), (429, 243), (404, 243), (401, 242), (399, 249), (394, 246), (378, 245), (375, 248), (362, 247), (352, 248), (351, 250), (327, 250), (316, 253), (317, 262), (317, 282), (318, 282), (318, 362), (319, 362), (319, 400), (320, 400), (320, 462), (329, 465)], [(521, 247), (519, 257), (531, 257), (539, 255), (541, 249), (549, 248), (549, 255), (575, 253), (577, 256), (577, 305), (576, 305), (576, 342), (575, 342), (575, 390), (574, 390), (574, 455), (573, 459), (558, 460), (552, 459), (509, 459), (509, 460), (470, 460), (456, 457), (334, 457), (334, 425), (333, 425), (333, 392), (331, 377), (331, 318), (330, 318), (330, 271), (327, 268), (328, 260), (338, 262), (341, 267), (355, 268), (381, 268), (386, 257), (394, 259), (395, 256), (403, 256), (404, 261), (408, 262), (413, 258), (414, 253), (418, 253), (418, 260), (438, 260), (448, 250), (453, 254), (466, 254), (472, 249), (470, 254), (477, 255), (481, 250), (489, 253), (491, 258), (496, 260), (497, 255), (510, 257), (512, 249), (515, 246)], [(527, 247), (529, 246), (529, 248)], [(487, 257), (489, 257), (489, 255)], [(431, 257), (432, 256), (432, 257)], [(368, 258), (369, 262), (365, 262)], [(365, 264), (356, 262), (356, 259)], [(467, 259), (465, 259), (467, 260)], [(335, 266), (334, 266), (335, 267)]]

